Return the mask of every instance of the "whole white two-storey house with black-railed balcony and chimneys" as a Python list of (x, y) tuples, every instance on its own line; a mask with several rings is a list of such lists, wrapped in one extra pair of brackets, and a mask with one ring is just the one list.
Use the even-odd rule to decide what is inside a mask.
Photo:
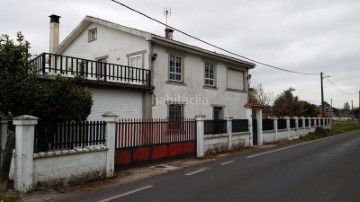
[[(59, 16), (50, 17), (54, 40)], [(255, 64), (175, 41), (171, 29), (161, 37), (86, 16), (50, 52), (33, 62), (45, 77), (84, 78), (94, 99), (89, 120), (106, 111), (120, 118), (245, 118)]]

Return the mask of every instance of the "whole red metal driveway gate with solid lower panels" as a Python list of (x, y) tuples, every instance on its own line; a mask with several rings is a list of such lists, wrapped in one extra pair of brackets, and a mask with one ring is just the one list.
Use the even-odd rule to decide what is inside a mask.
[(195, 155), (194, 120), (126, 120), (116, 123), (115, 165)]

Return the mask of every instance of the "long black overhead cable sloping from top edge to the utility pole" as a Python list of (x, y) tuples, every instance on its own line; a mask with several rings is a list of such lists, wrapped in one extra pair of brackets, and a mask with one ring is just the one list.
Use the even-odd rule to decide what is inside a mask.
[(190, 35), (190, 34), (188, 34), (188, 33), (186, 33), (186, 32), (183, 32), (183, 31), (181, 31), (181, 30), (179, 30), (179, 29), (177, 29), (177, 28), (175, 28), (175, 27), (169, 26), (169, 25), (161, 22), (160, 20), (157, 20), (157, 19), (155, 19), (155, 18), (153, 18), (153, 17), (150, 17), (149, 15), (147, 15), (147, 14), (145, 14), (145, 13), (142, 13), (142, 12), (140, 12), (140, 11), (134, 9), (134, 8), (131, 8), (131, 7), (125, 5), (125, 4), (121, 3), (121, 2), (118, 2), (118, 1), (116, 1), (116, 0), (111, 0), (111, 1), (114, 2), (114, 3), (117, 3), (117, 4), (121, 5), (121, 6), (123, 6), (123, 7), (125, 7), (125, 8), (127, 8), (127, 9), (129, 9), (129, 10), (131, 10), (131, 11), (133, 11), (133, 12), (136, 12), (136, 13), (138, 13), (138, 14), (140, 14), (140, 15), (142, 15), (142, 16), (144, 16), (144, 17), (146, 17), (146, 18), (148, 18), (148, 19), (150, 19), (150, 20), (152, 20), (152, 21), (155, 21), (155, 22), (160, 23), (160, 24), (162, 24), (162, 25), (164, 25), (164, 26), (166, 26), (166, 27), (168, 27), (168, 28), (171, 28), (171, 29), (177, 31), (177, 32), (180, 32), (180, 33), (182, 33), (182, 34), (184, 34), (184, 35), (186, 35), (186, 36), (188, 36), (188, 37), (190, 37), (190, 38), (192, 38), (192, 39), (198, 40), (198, 41), (200, 41), (200, 42), (202, 42), (202, 43), (204, 43), (204, 44), (207, 44), (207, 45), (209, 45), (209, 46), (211, 46), (211, 47), (214, 47), (214, 48), (217, 48), (217, 49), (219, 49), (219, 50), (222, 50), (222, 51), (224, 51), (224, 52), (226, 52), (226, 53), (229, 53), (229, 54), (231, 54), (231, 55), (234, 55), (234, 56), (237, 56), (237, 57), (246, 59), (246, 60), (248, 60), (248, 61), (250, 61), (250, 62), (259, 64), (259, 65), (263, 65), (263, 66), (267, 66), (267, 67), (271, 67), (271, 68), (274, 68), (274, 69), (277, 69), (277, 70), (281, 70), (281, 71), (293, 73), (293, 74), (318, 75), (318, 73), (298, 72), (298, 71), (293, 71), (293, 70), (284, 69), (284, 68), (281, 68), (281, 67), (277, 67), (277, 66), (274, 66), (274, 65), (270, 65), (270, 64), (267, 64), (267, 63), (264, 63), (264, 62), (260, 62), (260, 61), (251, 59), (251, 58), (249, 58), (249, 57), (246, 57), (246, 56), (243, 56), (243, 55), (234, 53), (234, 52), (232, 52), (232, 51), (229, 51), (229, 50), (226, 50), (226, 49), (224, 49), (224, 48), (221, 48), (220, 46), (217, 46), (217, 45), (211, 44), (211, 43), (209, 43), (209, 42), (207, 42), (207, 41), (204, 41), (204, 40), (202, 40), (202, 39), (200, 39), (200, 38), (198, 38), (198, 37), (192, 36), (192, 35)]

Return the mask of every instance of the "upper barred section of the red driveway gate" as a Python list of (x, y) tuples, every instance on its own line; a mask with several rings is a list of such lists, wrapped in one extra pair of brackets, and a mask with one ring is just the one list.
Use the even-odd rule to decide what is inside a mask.
[(115, 148), (188, 142), (196, 140), (194, 119), (121, 120), (116, 123)]

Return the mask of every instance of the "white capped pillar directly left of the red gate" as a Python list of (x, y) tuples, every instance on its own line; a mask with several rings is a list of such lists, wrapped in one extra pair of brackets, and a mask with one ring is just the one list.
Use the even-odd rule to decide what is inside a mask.
[(106, 177), (114, 176), (115, 169), (115, 133), (116, 133), (116, 118), (118, 115), (107, 112), (102, 114), (102, 117), (106, 123), (105, 138), (106, 145), (109, 150), (106, 152)]

